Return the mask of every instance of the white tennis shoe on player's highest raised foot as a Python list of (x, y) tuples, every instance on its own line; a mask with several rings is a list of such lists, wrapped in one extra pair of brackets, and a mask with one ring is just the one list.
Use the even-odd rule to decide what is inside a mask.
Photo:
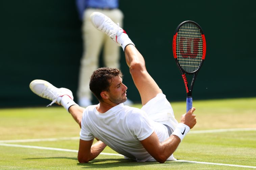
[(114, 23), (110, 18), (100, 12), (93, 12), (91, 14), (91, 22), (98, 30), (107, 34), (118, 44), (119, 42), (117, 41), (117, 37), (122, 33), (126, 33), (121, 27), (119, 27), (119, 23)]

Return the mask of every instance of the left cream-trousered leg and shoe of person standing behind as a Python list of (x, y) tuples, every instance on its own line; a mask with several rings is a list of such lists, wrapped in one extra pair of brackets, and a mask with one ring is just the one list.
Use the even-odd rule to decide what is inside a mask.
[[(90, 15), (94, 10), (87, 9), (84, 13), (82, 35), (83, 35), (83, 56), (81, 58), (79, 82), (78, 82), (78, 103), (81, 106), (90, 105), (92, 93), (89, 89), (90, 76), (98, 68), (99, 54), (104, 41), (104, 34), (99, 33), (90, 21)], [(88, 104), (86, 101), (88, 100)]]

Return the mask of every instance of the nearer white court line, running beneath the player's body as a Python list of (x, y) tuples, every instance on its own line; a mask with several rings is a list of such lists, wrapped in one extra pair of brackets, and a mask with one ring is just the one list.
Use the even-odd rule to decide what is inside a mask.
[[(61, 149), (61, 148), (54, 148), (54, 147), (41, 147), (41, 146), (29, 146), (29, 145), (17, 145), (17, 144), (7, 144), (7, 143), (0, 143), (0, 146), (24, 147), (24, 148), (34, 148), (34, 149), (47, 149), (47, 150), (78, 152), (78, 150), (72, 150), (72, 149)], [(101, 152), (100, 154), (101, 155), (111, 155), (111, 156), (123, 156), (121, 154), (110, 154), (110, 153), (104, 153), (104, 152)], [(186, 161), (186, 160), (177, 160), (177, 161), (178, 162), (197, 163), (197, 164), (210, 164), (210, 165), (233, 166), (233, 167), (254, 168), (254, 169), (256, 169), (256, 166), (219, 164), (219, 163), (211, 163), (211, 162), (198, 162), (198, 161)]]

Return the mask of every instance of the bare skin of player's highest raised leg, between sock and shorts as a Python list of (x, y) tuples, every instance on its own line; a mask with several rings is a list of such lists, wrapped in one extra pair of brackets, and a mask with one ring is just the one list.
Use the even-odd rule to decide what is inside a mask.
[(155, 80), (147, 72), (145, 60), (134, 45), (125, 47), (125, 59), (136, 88), (139, 91), (142, 105), (162, 93)]

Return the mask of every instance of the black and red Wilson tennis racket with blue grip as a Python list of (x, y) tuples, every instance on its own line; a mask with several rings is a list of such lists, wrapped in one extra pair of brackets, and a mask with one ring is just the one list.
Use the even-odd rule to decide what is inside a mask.
[[(193, 21), (182, 22), (173, 36), (173, 56), (185, 83), (187, 111), (192, 108), (192, 90), (204, 62), (205, 53), (206, 41), (202, 28)], [(190, 88), (186, 78), (187, 74), (193, 75)]]

